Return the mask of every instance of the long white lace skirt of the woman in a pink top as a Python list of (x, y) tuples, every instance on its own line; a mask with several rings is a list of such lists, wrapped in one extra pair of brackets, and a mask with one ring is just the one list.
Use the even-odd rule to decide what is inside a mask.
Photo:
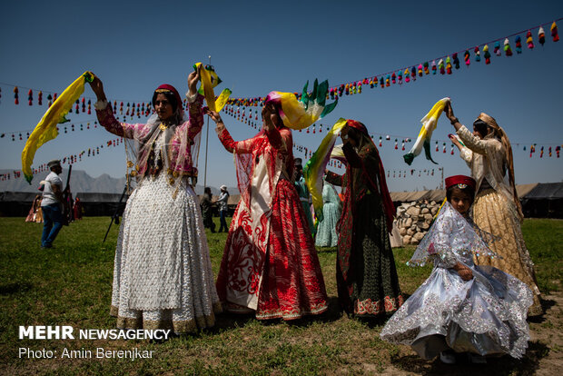
[[(157, 140), (157, 160), (163, 135)], [(111, 313), (122, 329), (193, 332), (221, 311), (198, 197), (185, 180), (145, 177), (123, 213), (114, 263)]]

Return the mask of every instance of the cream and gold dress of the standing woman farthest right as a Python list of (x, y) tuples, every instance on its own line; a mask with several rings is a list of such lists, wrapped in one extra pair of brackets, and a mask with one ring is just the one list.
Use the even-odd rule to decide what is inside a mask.
[[(482, 117), (489, 124), (489, 119), (492, 118), (485, 116)], [(499, 128), (496, 122), (494, 125)], [(509, 143), (508, 145), (501, 143), (492, 133), (480, 140), (465, 126), (461, 126), (458, 135), (465, 143), (459, 154), (468, 163), (471, 175), (477, 181), (473, 220), (481, 230), (499, 237), (499, 241), (493, 242), (490, 247), (502, 257), (491, 259), (486, 255), (476, 256), (475, 263), (494, 266), (528, 284), (534, 292), (534, 304), (528, 313), (541, 314), (543, 310), (539, 302), (540, 292), (534, 263), (529, 257), (520, 227), (522, 215), (518, 195), (514, 183), (509, 186), (504, 181), (505, 172), (510, 164), (507, 160)]]

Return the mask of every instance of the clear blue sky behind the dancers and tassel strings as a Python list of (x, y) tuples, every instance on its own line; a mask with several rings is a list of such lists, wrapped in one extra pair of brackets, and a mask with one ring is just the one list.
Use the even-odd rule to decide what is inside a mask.
[[(514, 55), (493, 54), (492, 63), (473, 61), (472, 48), (500, 37), (563, 16), (563, 2), (2, 2), (5, 17), (0, 24), (0, 169), (21, 169), (24, 142), (11, 141), (10, 134), (33, 129), (46, 111), (36, 104), (39, 89), (61, 93), (85, 70), (104, 82), (110, 99), (148, 102), (156, 86), (173, 84), (187, 90), (187, 74), (195, 62), (207, 63), (208, 55), (221, 76), (222, 87), (232, 96), (263, 96), (272, 90), (301, 91), (307, 81), (328, 79), (331, 85), (418, 65), (445, 54), (461, 51), (461, 67), (453, 74), (428, 75), (416, 82), (391, 85), (381, 90), (364, 86), (362, 94), (341, 98), (321, 124), (339, 117), (366, 124), (378, 142), (379, 134), (397, 134), (416, 139), (420, 118), (440, 98), (452, 99), (461, 123), (471, 124), (480, 112), (496, 117), (513, 143), (517, 183), (560, 182), (563, 158), (549, 158), (548, 144), (563, 144), (563, 41), (553, 43), (546, 29), (546, 44)], [(563, 27), (559, 22), (559, 28)], [(492, 44), (489, 45), (492, 54)], [(481, 45), (482, 47), (482, 45)], [(471, 64), (463, 64), (463, 51), (470, 48)], [(481, 52), (482, 56), (482, 52)], [(14, 104), (13, 84), (34, 89), (35, 103), (27, 104), (27, 89), (20, 89), (20, 104)], [(84, 96), (94, 102), (89, 87)], [(95, 115), (68, 116), (75, 128)], [(256, 133), (248, 125), (223, 114), (235, 140)], [(140, 121), (140, 120), (136, 120)], [(213, 131), (209, 139), (207, 183), (234, 186), (232, 154), (227, 153)], [(60, 134), (35, 155), (35, 164), (89, 147), (115, 137), (99, 127)], [(453, 128), (443, 116), (433, 139), (446, 140)], [(440, 173), (414, 173), (392, 178), (393, 171), (411, 168), (437, 169), (422, 156), (412, 166), (402, 161), (406, 152), (394, 150), (391, 142), (380, 148), (391, 191), (435, 188)], [(17, 139), (17, 136), (16, 136)], [(295, 143), (315, 149), (321, 135), (294, 133)], [(399, 146), (400, 146), (399, 140)], [(519, 143), (519, 144), (517, 144)], [(529, 143), (546, 146), (543, 158), (528, 157)], [(432, 143), (434, 144), (434, 143)], [(526, 144), (527, 151), (523, 151)], [(203, 183), (205, 129), (200, 153), (200, 183)], [(411, 143), (407, 144), (409, 150)], [(445, 176), (469, 173), (459, 159), (433, 152)], [(295, 153), (301, 156), (300, 153)], [(125, 171), (123, 147), (104, 148), (94, 158), (84, 158), (74, 169), (92, 176)]]

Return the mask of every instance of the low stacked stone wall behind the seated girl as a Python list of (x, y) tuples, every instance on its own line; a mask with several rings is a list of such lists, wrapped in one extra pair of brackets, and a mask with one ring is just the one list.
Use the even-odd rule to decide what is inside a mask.
[(403, 244), (418, 244), (430, 229), (434, 215), (440, 209), (435, 201), (402, 203), (397, 208), (397, 226)]

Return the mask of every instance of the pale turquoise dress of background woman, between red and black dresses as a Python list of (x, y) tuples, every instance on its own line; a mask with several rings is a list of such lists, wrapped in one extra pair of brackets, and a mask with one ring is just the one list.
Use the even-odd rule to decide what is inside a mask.
[(341, 217), (341, 198), (330, 183), (322, 186), (322, 221), (317, 226), (315, 245), (317, 247), (336, 247), (338, 233), (336, 223)]

